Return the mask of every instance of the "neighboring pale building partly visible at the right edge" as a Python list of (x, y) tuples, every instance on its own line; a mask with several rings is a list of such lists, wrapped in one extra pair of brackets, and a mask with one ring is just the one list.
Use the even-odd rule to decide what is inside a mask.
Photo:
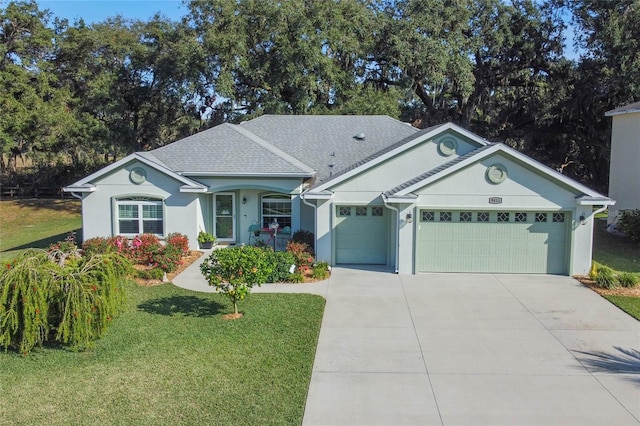
[(616, 200), (607, 222), (615, 230), (620, 211), (640, 209), (640, 102), (605, 115), (612, 117), (609, 196)]

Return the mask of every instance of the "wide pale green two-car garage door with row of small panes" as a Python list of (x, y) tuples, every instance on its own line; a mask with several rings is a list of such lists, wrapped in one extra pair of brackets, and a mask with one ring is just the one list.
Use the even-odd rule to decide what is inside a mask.
[(419, 210), (416, 272), (567, 272), (569, 213)]

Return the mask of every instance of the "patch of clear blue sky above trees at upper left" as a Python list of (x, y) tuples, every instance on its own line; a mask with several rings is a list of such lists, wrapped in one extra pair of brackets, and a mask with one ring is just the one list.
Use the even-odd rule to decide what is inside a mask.
[(147, 20), (157, 12), (177, 21), (187, 13), (181, 0), (37, 0), (37, 3), (40, 9), (49, 9), (53, 17), (67, 18), (70, 23), (82, 18), (92, 24), (116, 15)]

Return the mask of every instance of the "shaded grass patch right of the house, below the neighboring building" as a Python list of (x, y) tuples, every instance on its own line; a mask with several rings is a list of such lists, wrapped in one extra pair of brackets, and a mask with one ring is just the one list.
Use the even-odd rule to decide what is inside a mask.
[(640, 245), (606, 231), (606, 222), (596, 220), (593, 260), (616, 271), (640, 272)]

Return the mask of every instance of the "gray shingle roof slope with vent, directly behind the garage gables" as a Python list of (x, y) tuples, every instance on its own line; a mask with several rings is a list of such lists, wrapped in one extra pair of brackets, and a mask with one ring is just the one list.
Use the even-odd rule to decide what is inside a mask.
[(386, 115), (263, 115), (240, 126), (313, 168), (318, 183), (418, 132)]

